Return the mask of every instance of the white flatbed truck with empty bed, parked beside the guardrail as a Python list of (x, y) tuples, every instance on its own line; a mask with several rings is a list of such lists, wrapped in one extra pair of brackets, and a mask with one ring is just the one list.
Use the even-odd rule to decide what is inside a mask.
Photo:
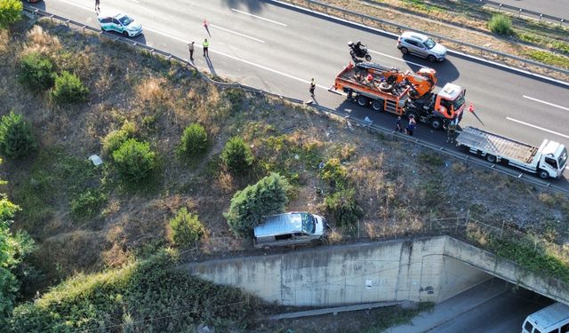
[(456, 145), (490, 163), (506, 163), (537, 173), (540, 178), (560, 177), (567, 164), (565, 146), (548, 139), (543, 140), (540, 147), (534, 147), (475, 127), (465, 127), (457, 136)]

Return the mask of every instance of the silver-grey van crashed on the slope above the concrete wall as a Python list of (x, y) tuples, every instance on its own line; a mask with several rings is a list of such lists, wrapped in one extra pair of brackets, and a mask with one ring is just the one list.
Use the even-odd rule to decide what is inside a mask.
[(254, 228), (257, 249), (324, 241), (326, 219), (308, 212), (270, 215)]

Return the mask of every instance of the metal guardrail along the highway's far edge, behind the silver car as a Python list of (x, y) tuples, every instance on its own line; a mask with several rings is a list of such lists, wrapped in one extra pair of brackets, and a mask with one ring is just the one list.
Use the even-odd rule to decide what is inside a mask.
[[(367, 25), (366, 21), (372, 21), (376, 24), (376, 26), (379, 26), (382, 29), (383, 33), (385, 33), (389, 36), (392, 36), (394, 38), (397, 38), (397, 36), (399, 36), (405, 30), (416, 30), (416, 29), (413, 29), (413, 28), (410, 28), (410, 27), (407, 27), (407, 26), (404, 26), (401, 24), (397, 24), (395, 22), (391, 22), (389, 20), (377, 19), (377, 18), (374, 18), (373, 16), (365, 15), (365, 14), (362, 14), (359, 12), (352, 12), (352, 11), (346, 10), (344, 8), (334, 6), (332, 4), (324, 4), (324, 3), (321, 3), (321, 2), (318, 2), (315, 0), (301, 0), (301, 1), (298, 1), (298, 0), (267, 0), (267, 1), (273, 2), (276, 4), (290, 4), (290, 5), (293, 5), (295, 8), (304, 9), (304, 10), (307, 10), (309, 12), (319, 13), (321, 15), (325, 15), (328, 17), (335, 17), (335, 18), (341, 19), (341, 20), (348, 20), (347, 18), (349, 16), (356, 17), (356, 18), (359, 18), (359, 21), (357, 22), (358, 24), (363, 24), (368, 28), (373, 28), (373, 27), (370, 25)], [(301, 3), (307, 4), (308, 6), (305, 7)], [(319, 11), (320, 9), (324, 9), (324, 12), (320, 12)], [(341, 12), (343, 17), (334, 16), (333, 13), (331, 13), (331, 12)], [(391, 28), (391, 30), (397, 31), (397, 34), (390, 32), (387, 28)], [(474, 44), (464, 43), (464, 42), (457, 41), (455, 39), (448, 38), (445, 36), (440, 36), (440, 35), (431, 34), (431, 33), (429, 33), (429, 36), (434, 36), (438, 40), (445, 41), (445, 42), (448, 42), (450, 44), (458, 45), (460, 52), (449, 50), (449, 52), (454, 52), (456, 54), (466, 54), (466, 55), (470, 55), (470, 56), (481, 56), (484, 58), (490, 55), (490, 56), (493, 56), (494, 59), (510, 59), (510, 60), (516, 61), (517, 63), (520, 63), (521, 66), (517, 66), (517, 69), (521, 69), (521, 70), (531, 72), (531, 70), (530, 70), (531, 68), (529, 67), (531, 65), (534, 67), (542, 68), (549, 75), (550, 75), (550, 72), (557, 72), (561, 75), (569, 75), (569, 70), (549, 66), (547, 64), (543, 64), (541, 62), (534, 61), (531, 59), (520, 58), (520, 57), (517, 57), (515, 55), (495, 51), (495, 50), (488, 49), (488, 48), (478, 46), (478, 45), (474, 45)], [(474, 50), (475, 52), (469, 52), (469, 50)]]

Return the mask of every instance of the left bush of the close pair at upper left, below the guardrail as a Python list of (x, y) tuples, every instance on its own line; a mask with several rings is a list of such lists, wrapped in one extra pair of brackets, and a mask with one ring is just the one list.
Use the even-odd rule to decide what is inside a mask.
[(51, 59), (37, 52), (31, 52), (21, 59), (21, 84), (34, 91), (44, 91), (52, 87), (54, 80), (55, 69)]

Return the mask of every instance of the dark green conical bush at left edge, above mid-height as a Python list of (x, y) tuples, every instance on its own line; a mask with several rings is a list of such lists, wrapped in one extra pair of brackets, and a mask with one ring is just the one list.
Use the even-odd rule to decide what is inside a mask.
[(12, 111), (0, 120), (0, 152), (8, 157), (19, 158), (36, 147), (32, 129), (22, 115)]

